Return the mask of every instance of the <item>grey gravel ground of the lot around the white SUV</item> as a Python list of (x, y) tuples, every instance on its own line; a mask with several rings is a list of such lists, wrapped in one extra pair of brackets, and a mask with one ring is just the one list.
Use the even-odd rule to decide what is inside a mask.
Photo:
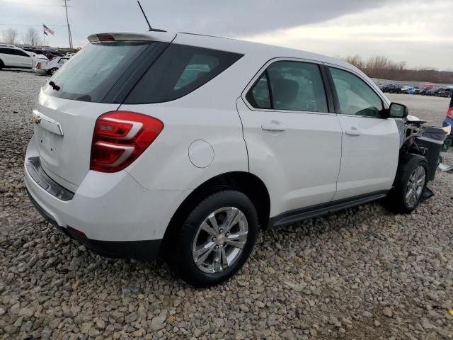
[[(0, 72), (0, 338), (453, 339), (453, 174), (411, 215), (374, 203), (262, 233), (239, 275), (194, 289), (163, 263), (91, 254), (35, 212), (23, 155), (44, 82)], [(448, 104), (391, 99), (437, 125)]]

